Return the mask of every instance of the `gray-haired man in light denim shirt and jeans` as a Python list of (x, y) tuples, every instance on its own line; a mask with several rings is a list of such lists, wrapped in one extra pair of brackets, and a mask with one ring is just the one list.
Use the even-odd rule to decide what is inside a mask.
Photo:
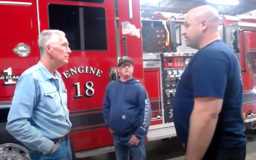
[(71, 160), (67, 90), (57, 71), (68, 63), (69, 43), (64, 32), (44, 30), (38, 46), (41, 60), (20, 76), (6, 129), (30, 149), (32, 160)]

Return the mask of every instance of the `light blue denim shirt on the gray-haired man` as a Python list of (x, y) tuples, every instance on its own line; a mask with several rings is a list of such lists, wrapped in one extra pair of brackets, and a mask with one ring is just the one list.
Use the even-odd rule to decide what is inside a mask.
[(17, 81), (6, 129), (31, 150), (44, 155), (72, 126), (67, 109), (67, 90), (59, 72), (55, 77), (41, 61)]

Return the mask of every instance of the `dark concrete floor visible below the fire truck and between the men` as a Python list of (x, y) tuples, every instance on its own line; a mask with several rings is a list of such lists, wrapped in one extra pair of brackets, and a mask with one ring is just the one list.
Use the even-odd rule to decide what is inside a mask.
[[(256, 159), (256, 130), (246, 132), (248, 138), (246, 160)], [(184, 160), (184, 149), (176, 138), (146, 144), (147, 160)], [(81, 160), (115, 160), (114, 153), (87, 157)]]

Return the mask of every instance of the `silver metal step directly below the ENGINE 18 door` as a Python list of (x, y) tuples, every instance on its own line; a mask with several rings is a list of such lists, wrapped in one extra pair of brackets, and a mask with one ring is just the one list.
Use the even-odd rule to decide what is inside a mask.
[(107, 146), (107, 147), (101, 147), (101, 148), (95, 148), (87, 151), (77, 152), (75, 153), (75, 157), (84, 158), (84, 157), (96, 156), (99, 154), (110, 153), (110, 152), (114, 152), (114, 146)]

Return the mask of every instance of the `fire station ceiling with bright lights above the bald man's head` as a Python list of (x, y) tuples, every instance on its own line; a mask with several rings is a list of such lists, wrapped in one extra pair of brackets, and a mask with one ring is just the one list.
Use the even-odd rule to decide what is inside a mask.
[(219, 11), (219, 14), (232, 16), (256, 9), (256, 0), (239, 0), (239, 2), (237, 6), (224, 6), (210, 4), (205, 0), (141, 0), (141, 17), (142, 19), (150, 19), (155, 12), (161, 12), (168, 18), (174, 16), (178, 19), (184, 19), (185, 14), (190, 9), (202, 5), (211, 5)]

